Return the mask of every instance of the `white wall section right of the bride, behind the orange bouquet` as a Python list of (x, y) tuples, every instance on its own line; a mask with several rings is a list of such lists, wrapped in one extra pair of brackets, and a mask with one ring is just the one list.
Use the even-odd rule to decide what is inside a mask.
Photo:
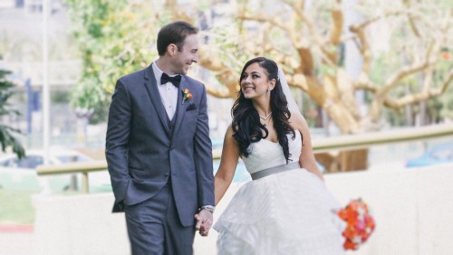
[(371, 207), (376, 230), (354, 254), (451, 254), (453, 165), (380, 169), (327, 175), (326, 183), (346, 204), (357, 197)]

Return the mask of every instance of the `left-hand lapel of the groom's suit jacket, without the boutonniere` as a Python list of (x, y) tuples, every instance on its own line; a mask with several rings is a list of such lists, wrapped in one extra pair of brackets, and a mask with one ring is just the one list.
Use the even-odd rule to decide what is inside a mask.
[(162, 99), (160, 99), (158, 84), (156, 83), (156, 78), (154, 77), (154, 72), (152, 71), (151, 65), (149, 65), (149, 67), (145, 71), (144, 85), (145, 89), (148, 91), (149, 99), (151, 99), (152, 105), (159, 115), (160, 124), (162, 124), (162, 127), (164, 127), (167, 135), (170, 136), (170, 129), (169, 125), (167, 124), (167, 112), (165, 111), (162, 104)]

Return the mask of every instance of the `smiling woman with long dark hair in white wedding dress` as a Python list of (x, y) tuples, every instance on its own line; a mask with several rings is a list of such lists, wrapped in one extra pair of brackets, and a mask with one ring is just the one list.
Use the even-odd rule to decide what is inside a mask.
[(340, 206), (323, 184), (304, 117), (288, 109), (287, 98), (294, 99), (283, 72), (275, 61), (255, 58), (246, 63), (240, 86), (215, 177), (216, 204), (239, 156), (253, 181), (214, 225), (217, 253), (342, 254)]

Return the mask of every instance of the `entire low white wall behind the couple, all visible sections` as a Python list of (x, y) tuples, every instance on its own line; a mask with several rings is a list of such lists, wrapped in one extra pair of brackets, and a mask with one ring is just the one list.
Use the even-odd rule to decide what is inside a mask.
[[(361, 197), (377, 222), (371, 239), (353, 254), (449, 254), (453, 251), (453, 165), (325, 175), (346, 204)], [(217, 206), (215, 221), (242, 184)], [(35, 254), (129, 254), (123, 213), (111, 213), (112, 194), (40, 195), (34, 200)], [(217, 232), (197, 235), (195, 254), (216, 254)]]

